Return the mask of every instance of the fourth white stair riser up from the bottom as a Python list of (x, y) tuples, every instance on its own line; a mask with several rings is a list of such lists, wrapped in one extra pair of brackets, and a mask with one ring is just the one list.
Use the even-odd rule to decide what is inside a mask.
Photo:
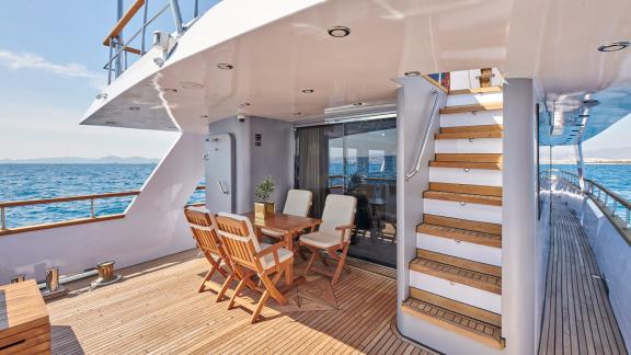
[(502, 186), (502, 171), (462, 168), (429, 168), (429, 181), (450, 184)]

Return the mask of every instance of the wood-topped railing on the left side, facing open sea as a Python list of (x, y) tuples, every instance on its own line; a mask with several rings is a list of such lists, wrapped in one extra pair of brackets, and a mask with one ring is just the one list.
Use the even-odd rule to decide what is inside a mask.
[[(206, 190), (206, 186), (199, 185), (195, 188), (196, 192), (200, 191), (200, 190)], [(18, 232), (25, 232), (25, 231), (33, 231), (33, 230), (41, 230), (41, 229), (57, 228), (57, 227), (67, 227), (67, 226), (81, 225), (81, 224), (93, 222), (93, 221), (103, 221), (103, 220), (123, 218), (123, 217), (125, 217), (125, 214), (112, 214), (112, 215), (96, 216), (95, 202), (99, 199), (137, 196), (139, 194), (140, 194), (140, 191), (126, 191), (126, 192), (106, 193), (106, 194), (79, 195), (79, 196), (43, 198), (43, 199), (28, 199), (28, 201), (0, 202), (0, 236), (13, 234), (13, 233), (18, 233)], [(8, 208), (36, 206), (36, 205), (50, 205), (50, 204), (78, 202), (78, 201), (89, 201), (90, 202), (90, 217), (78, 218), (78, 219), (76, 218), (76, 219), (48, 222), (48, 224), (42, 224), (42, 225), (30, 225), (30, 226), (16, 227), (16, 228), (9, 228), (9, 224), (7, 222), (7, 209)], [(190, 204), (187, 204), (187, 206), (203, 206), (203, 205), (204, 205), (204, 203), (190, 203)]]

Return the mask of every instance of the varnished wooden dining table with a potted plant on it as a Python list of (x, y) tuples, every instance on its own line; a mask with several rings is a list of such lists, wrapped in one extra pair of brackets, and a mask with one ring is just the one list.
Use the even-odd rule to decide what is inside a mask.
[[(294, 252), (294, 238), (301, 231), (308, 229), (309, 231), (316, 231), (316, 227), (319, 226), (322, 220), (309, 217), (299, 217), (292, 215), (285, 215), (285, 214), (274, 214), (274, 216), (266, 217), (265, 219), (259, 219), (254, 216), (254, 213), (243, 214), (243, 216), (250, 218), (252, 222), (252, 227), (254, 227), (254, 231), (259, 239), (262, 238), (263, 233), (261, 229), (273, 230), (275, 232), (282, 233), (287, 249)], [(289, 272), (285, 275), (285, 285), (282, 289), (282, 293), (286, 293), (289, 290), (294, 284), (298, 280), (303, 279), (302, 276), (298, 276), (294, 278), (294, 268), (289, 270)]]

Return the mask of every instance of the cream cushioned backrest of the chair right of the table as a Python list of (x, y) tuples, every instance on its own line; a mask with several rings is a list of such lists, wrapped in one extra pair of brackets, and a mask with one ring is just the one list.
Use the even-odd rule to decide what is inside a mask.
[[(319, 231), (330, 234), (340, 234), (337, 227), (351, 226), (355, 222), (357, 198), (347, 195), (329, 195), (324, 202), (322, 224)], [(344, 231), (344, 241), (351, 239), (351, 229)]]

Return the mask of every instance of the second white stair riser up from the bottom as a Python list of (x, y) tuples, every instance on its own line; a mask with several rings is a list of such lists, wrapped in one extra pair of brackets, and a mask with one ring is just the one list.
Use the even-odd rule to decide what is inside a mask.
[(457, 239), (416, 233), (416, 248), (440, 254), (502, 266), (502, 249)]

